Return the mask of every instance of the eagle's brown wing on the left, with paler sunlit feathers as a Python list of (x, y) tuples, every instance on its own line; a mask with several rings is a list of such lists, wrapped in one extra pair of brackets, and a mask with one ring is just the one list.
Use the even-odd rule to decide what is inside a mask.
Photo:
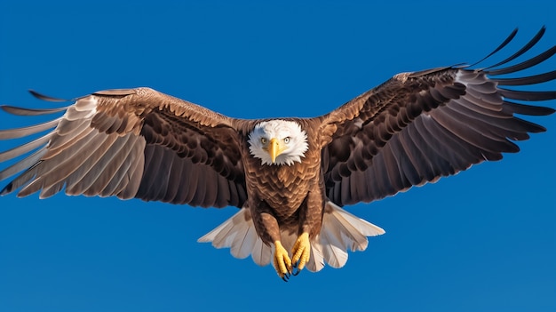
[[(34, 92), (43, 100), (53, 100)], [(64, 111), (44, 124), (0, 131), (0, 140), (33, 137), (0, 153), (21, 157), (0, 180), (22, 172), (1, 192), (41, 197), (138, 197), (173, 204), (241, 207), (246, 198), (236, 126), (242, 121), (148, 88), (95, 92), (66, 108), (3, 106), (13, 115)]]

